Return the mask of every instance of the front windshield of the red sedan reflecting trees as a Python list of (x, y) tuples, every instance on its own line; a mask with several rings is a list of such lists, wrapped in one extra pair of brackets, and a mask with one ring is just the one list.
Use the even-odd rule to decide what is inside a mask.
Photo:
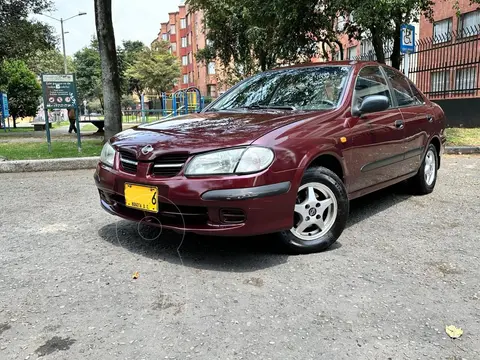
[(338, 106), (349, 70), (348, 66), (315, 66), (264, 72), (221, 97), (209, 110), (333, 109)]

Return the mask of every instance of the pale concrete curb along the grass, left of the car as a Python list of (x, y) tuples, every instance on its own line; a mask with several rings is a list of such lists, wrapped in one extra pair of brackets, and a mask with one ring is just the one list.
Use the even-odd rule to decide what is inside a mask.
[(0, 161), (1, 173), (95, 169), (99, 157)]

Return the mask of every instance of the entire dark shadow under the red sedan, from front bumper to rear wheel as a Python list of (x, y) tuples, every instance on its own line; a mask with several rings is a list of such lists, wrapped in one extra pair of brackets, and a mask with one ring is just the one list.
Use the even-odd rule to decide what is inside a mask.
[[(407, 185), (399, 184), (354, 200), (347, 227), (409, 197)], [(127, 220), (108, 224), (98, 233), (105, 241), (135, 254), (204, 270), (250, 272), (286, 263), (289, 256), (281, 253), (274, 235), (241, 238), (183, 236)], [(341, 247), (341, 241), (337, 241), (327, 251)]]

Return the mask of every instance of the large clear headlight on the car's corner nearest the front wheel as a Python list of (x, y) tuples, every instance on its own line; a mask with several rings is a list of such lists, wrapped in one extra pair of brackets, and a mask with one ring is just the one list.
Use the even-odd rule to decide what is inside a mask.
[(195, 156), (185, 175), (226, 175), (255, 173), (266, 169), (273, 161), (273, 151), (252, 146), (215, 151)]

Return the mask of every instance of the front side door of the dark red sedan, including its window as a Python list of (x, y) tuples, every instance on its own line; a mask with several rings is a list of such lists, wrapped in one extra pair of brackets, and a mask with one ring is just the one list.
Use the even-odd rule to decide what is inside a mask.
[(363, 67), (355, 81), (352, 106), (372, 95), (384, 95), (390, 108), (348, 119), (353, 146), (349, 151), (349, 192), (384, 183), (402, 175), (405, 129), (400, 110), (380, 66)]

